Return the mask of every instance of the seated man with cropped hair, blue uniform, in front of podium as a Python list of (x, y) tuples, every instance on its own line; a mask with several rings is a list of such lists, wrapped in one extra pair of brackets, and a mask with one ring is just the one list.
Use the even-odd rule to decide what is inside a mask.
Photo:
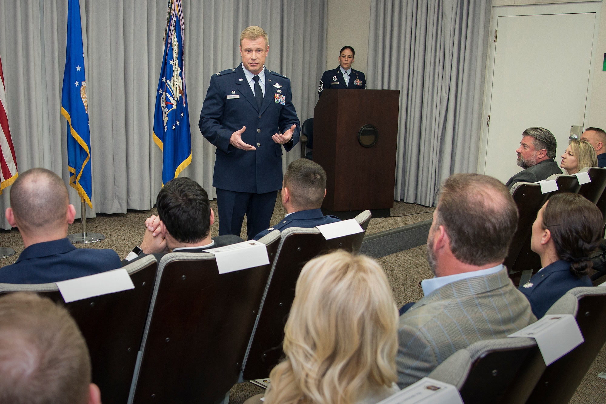
[(322, 201), (326, 196), (326, 172), (307, 158), (299, 158), (288, 165), (282, 184), (282, 205), (287, 215), (276, 226), (255, 236), (258, 240), (273, 230), (288, 227), (316, 227), (339, 221), (335, 216), (322, 215)]

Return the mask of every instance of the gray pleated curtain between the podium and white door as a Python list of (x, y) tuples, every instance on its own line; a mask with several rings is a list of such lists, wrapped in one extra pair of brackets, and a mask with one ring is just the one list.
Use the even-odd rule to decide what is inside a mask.
[(400, 90), (395, 200), (433, 206), (475, 172), (490, 0), (373, 0), (368, 88)]

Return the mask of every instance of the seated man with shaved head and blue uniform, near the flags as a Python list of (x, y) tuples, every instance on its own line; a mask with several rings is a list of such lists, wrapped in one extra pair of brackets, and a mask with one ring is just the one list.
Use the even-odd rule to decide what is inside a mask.
[(75, 207), (61, 178), (45, 168), (19, 175), (10, 190), (6, 219), (18, 227), (25, 249), (14, 264), (0, 268), (0, 282), (42, 284), (119, 268), (114, 250), (76, 249), (67, 239)]

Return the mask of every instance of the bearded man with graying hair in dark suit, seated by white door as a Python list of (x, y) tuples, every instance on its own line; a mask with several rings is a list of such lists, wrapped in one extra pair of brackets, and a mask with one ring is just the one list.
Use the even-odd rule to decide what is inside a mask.
[(547, 180), (553, 174), (562, 174), (556, 158), (556, 138), (545, 128), (528, 128), (522, 132), (518, 153), (518, 166), (523, 171), (518, 172), (505, 184), (509, 189), (515, 183), (536, 183)]

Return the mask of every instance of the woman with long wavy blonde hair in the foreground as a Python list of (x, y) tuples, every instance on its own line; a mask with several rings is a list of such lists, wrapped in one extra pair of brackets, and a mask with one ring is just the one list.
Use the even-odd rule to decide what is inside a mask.
[(373, 404), (391, 396), (399, 390), (397, 325), (398, 309), (376, 261), (344, 251), (312, 259), (297, 281), (286, 359), (271, 371), (265, 404)]

